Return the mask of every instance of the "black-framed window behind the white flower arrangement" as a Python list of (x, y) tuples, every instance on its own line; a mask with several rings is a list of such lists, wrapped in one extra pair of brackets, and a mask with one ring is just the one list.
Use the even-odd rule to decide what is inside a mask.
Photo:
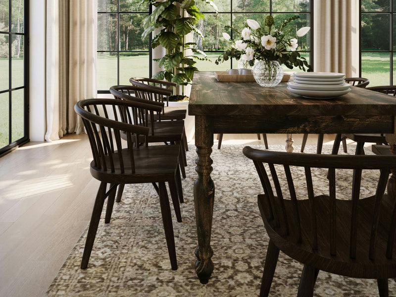
[[(202, 1), (196, 1), (199, 10), (205, 14), (205, 18), (197, 24), (198, 29), (204, 36), (204, 41), (199, 36), (195, 36), (195, 42), (199, 49), (203, 50), (208, 58), (212, 61), (198, 61), (196, 67), (200, 71), (226, 70), (237, 68), (237, 62), (230, 60), (215, 65), (214, 61), (227, 48), (226, 41), (222, 37), (225, 26), (232, 26), (242, 30), (245, 27), (247, 19), (254, 19), (258, 22), (272, 14), (276, 25), (283, 22), (286, 18), (299, 15), (300, 18), (289, 25), (294, 25), (292, 34), (296, 34), (297, 30), (303, 26), (312, 27), (313, 20), (313, 1), (310, 0), (215, 0), (214, 3), (218, 8), (218, 15), (208, 4)], [(231, 32), (227, 32), (231, 35)], [(298, 50), (301, 56), (304, 56), (308, 63), (312, 61), (312, 34), (309, 32), (303, 38), (298, 38)], [(286, 71), (290, 69), (285, 67)], [(297, 71), (300, 71), (298, 68)]]

